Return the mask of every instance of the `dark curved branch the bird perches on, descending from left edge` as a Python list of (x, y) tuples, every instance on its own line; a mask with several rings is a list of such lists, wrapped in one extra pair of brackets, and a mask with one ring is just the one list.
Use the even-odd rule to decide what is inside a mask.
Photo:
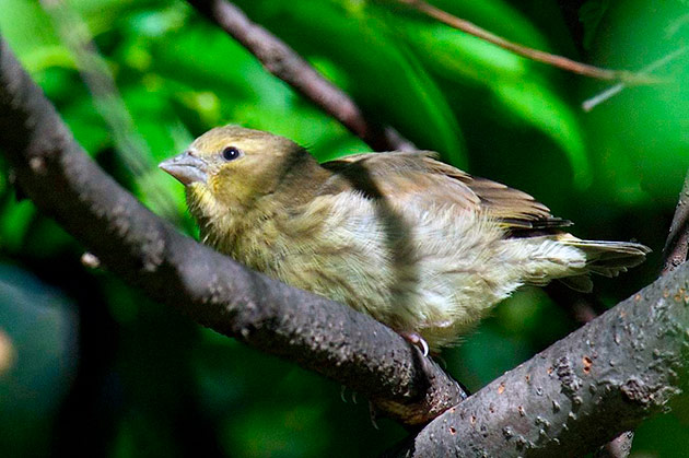
[(22, 190), (108, 270), (201, 325), (338, 380), (404, 424), (463, 399), (384, 325), (253, 272), (143, 208), (84, 154), (1, 37), (0, 150)]

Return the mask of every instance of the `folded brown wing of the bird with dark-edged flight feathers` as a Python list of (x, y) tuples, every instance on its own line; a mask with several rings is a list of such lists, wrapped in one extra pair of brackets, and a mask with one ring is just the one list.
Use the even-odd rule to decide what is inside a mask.
[(372, 197), (401, 204), (454, 204), (484, 211), (511, 231), (571, 225), (526, 192), (474, 177), (429, 151), (355, 154), (322, 164), (338, 179)]

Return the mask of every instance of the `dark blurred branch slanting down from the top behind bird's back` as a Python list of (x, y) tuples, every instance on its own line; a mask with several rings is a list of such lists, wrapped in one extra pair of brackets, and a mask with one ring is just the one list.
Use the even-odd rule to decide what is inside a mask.
[(367, 118), (349, 95), (323, 78), (287, 44), (253, 23), (233, 3), (224, 0), (188, 2), (240, 42), (270, 73), (340, 121), (374, 150), (416, 149), (392, 127), (381, 126)]

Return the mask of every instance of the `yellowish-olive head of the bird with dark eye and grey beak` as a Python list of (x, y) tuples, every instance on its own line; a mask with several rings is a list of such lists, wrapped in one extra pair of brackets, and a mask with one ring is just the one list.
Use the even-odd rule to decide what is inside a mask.
[[(271, 195), (308, 153), (282, 137), (238, 126), (214, 128), (159, 166), (186, 187), (195, 216), (242, 211)], [(312, 160), (313, 161), (313, 160)]]

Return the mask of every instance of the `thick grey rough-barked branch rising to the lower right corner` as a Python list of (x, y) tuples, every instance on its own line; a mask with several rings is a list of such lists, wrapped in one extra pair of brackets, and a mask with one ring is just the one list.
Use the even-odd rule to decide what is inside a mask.
[(397, 455), (581, 456), (661, 411), (688, 366), (684, 265), (445, 412)]

